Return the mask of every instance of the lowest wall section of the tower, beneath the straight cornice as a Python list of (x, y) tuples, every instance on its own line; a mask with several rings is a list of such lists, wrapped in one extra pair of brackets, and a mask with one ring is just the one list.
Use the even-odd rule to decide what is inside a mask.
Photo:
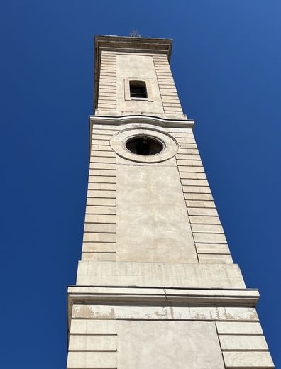
[(67, 368), (274, 365), (254, 308), (74, 304)]

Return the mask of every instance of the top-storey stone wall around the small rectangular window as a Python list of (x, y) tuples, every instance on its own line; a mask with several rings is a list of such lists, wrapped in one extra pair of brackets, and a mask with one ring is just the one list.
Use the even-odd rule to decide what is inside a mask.
[[(145, 81), (149, 99), (126, 96), (129, 80)], [(167, 55), (101, 53), (96, 115), (148, 114), (184, 118)]]

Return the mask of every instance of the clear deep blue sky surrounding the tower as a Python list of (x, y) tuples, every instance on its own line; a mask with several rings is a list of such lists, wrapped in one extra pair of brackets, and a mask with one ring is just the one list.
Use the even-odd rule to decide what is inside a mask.
[[(280, 1), (1, 1), (1, 368), (59, 369), (82, 244), (93, 36), (173, 38), (233, 259), (280, 356)], [(279, 365), (278, 365), (279, 364)]]

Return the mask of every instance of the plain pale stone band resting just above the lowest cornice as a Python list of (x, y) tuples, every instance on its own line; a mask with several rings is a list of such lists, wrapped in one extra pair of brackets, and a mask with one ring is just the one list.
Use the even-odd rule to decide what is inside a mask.
[(80, 261), (77, 285), (244, 288), (236, 264)]

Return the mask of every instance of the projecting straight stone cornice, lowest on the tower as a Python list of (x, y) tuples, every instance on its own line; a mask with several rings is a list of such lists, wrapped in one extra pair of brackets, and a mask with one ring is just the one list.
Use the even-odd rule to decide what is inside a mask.
[(260, 294), (255, 289), (69, 286), (67, 311), (70, 322), (73, 304), (255, 307), (259, 297)]

